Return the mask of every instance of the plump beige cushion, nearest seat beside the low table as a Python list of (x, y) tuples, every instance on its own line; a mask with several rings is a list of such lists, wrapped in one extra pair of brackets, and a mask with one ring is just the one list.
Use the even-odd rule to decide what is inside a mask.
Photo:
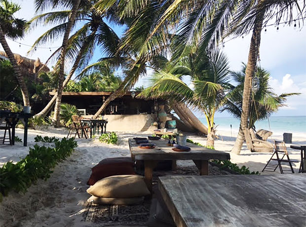
[(150, 194), (144, 177), (139, 175), (107, 177), (96, 182), (87, 192), (104, 198), (134, 198)]

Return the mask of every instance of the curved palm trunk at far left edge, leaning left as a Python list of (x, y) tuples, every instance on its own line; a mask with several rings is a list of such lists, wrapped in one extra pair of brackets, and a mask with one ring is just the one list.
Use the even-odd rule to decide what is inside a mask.
[(23, 75), (21, 74), (21, 70), (20, 67), (17, 64), (17, 61), (14, 57), (14, 54), (12, 53), (11, 49), (9, 48), (4, 33), (2, 31), (2, 28), (0, 26), (0, 43), (9, 59), (9, 61), (11, 62), (13, 68), (14, 68), (14, 73), (15, 76), (17, 78), (18, 84), (20, 86), (21, 89), (21, 93), (22, 93), (22, 99), (23, 99), (23, 105), (24, 106), (30, 106), (30, 99), (29, 99), (29, 93), (28, 93), (28, 88), (26, 85), (26, 82), (24, 80)]

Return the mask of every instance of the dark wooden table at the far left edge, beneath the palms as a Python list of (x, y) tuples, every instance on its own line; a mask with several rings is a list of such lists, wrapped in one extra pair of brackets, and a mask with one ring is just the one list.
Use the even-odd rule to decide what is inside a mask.
[(23, 112), (8, 112), (0, 110), (0, 118), (5, 118), (9, 127), (12, 129), (12, 145), (15, 145), (15, 127), (19, 119), (24, 119), (24, 133), (23, 133), (23, 146), (27, 147), (28, 142), (28, 122), (32, 114), (26, 114)]

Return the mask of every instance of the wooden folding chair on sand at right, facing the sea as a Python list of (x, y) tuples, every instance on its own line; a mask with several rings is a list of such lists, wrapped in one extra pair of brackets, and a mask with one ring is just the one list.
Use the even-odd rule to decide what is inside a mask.
[[(298, 162), (298, 161), (297, 160), (290, 160), (285, 143), (274, 140), (274, 149), (275, 149), (274, 153), (272, 154), (271, 158), (268, 160), (268, 163), (266, 164), (266, 166), (265, 166), (265, 168), (263, 169), (262, 172), (264, 172), (265, 169), (267, 169), (266, 171), (268, 171), (268, 172), (274, 172), (277, 169), (277, 167), (279, 167), (280, 173), (283, 174), (284, 170), (281, 166), (281, 163), (284, 162), (284, 163), (289, 164), (291, 172), (294, 173), (294, 170), (293, 170), (293, 167), (292, 167), (291, 163), (292, 162)], [(273, 158), (274, 155), (276, 155), (276, 158)], [(283, 155), (283, 156), (280, 158), (280, 155)], [(286, 157), (286, 159), (284, 159), (284, 157)], [(268, 165), (271, 160), (277, 161), (277, 165), (276, 166), (275, 165)], [(290, 171), (290, 170), (286, 170), (286, 171)]]

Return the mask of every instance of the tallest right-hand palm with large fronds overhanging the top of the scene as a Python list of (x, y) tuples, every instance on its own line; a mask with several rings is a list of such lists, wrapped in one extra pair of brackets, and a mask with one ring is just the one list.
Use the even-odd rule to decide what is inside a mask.
[[(139, 4), (138, 0), (131, 2), (129, 2), (129, 6)], [(146, 8), (148, 2), (152, 1), (141, 4), (143, 11), (148, 10)], [(111, 7), (112, 3), (120, 6), (121, 1), (99, 0), (96, 8), (98, 11), (103, 11), (103, 7)], [(306, 2), (301, 3), (297, 0), (161, 0), (158, 3), (161, 5), (158, 12), (161, 13), (156, 13), (156, 16), (152, 17), (152, 29), (139, 51), (138, 59), (149, 58), (156, 50), (165, 46), (169, 38), (167, 35), (169, 30), (173, 31), (173, 34), (180, 35), (180, 38), (173, 43), (176, 46), (173, 58), (178, 60), (190, 42), (194, 40), (199, 40), (199, 49), (207, 47), (212, 49), (219, 40), (223, 40), (229, 35), (241, 36), (252, 31), (243, 89), (241, 122), (237, 140), (232, 149), (232, 152), (239, 153), (248, 125), (251, 81), (256, 69), (262, 27), (272, 18), (275, 19), (276, 24), (281, 19), (285, 19), (290, 25), (293, 22), (294, 12), (298, 12), (302, 18), (305, 18)], [(121, 8), (122, 5), (124, 5), (123, 2)], [(133, 7), (130, 7), (130, 10), (123, 14), (129, 15), (139, 11), (141, 10), (133, 10)], [(163, 35), (156, 38), (156, 34)], [(138, 34), (133, 33), (133, 35), (137, 36)]]

